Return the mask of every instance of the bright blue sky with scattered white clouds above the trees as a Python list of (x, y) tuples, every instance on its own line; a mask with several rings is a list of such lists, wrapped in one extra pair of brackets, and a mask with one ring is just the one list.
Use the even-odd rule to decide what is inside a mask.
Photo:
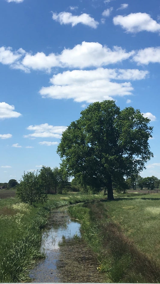
[(141, 176), (160, 179), (158, 0), (0, 1), (0, 182), (59, 166), (62, 132), (114, 99), (154, 126)]

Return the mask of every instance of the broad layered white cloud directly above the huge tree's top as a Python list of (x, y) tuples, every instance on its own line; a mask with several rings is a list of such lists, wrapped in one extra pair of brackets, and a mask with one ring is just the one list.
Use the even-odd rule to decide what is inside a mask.
[(130, 82), (117, 83), (110, 80), (139, 80), (148, 71), (137, 69), (73, 70), (53, 75), (49, 87), (42, 87), (43, 98), (74, 99), (76, 102), (95, 102), (113, 99), (114, 96), (130, 95), (133, 87)]

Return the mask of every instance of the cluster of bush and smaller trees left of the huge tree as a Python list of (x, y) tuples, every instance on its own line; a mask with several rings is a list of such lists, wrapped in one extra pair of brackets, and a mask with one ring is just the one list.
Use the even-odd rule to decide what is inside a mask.
[(62, 191), (69, 187), (68, 174), (62, 168), (42, 166), (36, 172), (23, 174), (20, 184), (16, 186), (17, 196), (23, 202), (43, 203), (47, 199), (47, 194), (62, 194)]

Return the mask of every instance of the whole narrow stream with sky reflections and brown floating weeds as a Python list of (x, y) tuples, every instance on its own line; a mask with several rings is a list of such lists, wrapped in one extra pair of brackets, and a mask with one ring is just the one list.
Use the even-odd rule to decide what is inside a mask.
[(67, 208), (51, 212), (42, 237), (46, 259), (30, 272), (35, 283), (103, 283), (97, 260), (80, 236), (80, 223)]

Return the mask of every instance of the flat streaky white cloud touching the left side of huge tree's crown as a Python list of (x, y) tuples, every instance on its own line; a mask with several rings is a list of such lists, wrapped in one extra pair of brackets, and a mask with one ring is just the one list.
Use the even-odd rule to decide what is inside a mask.
[(34, 131), (34, 133), (24, 135), (25, 138), (29, 137), (54, 137), (61, 138), (61, 134), (65, 131), (66, 126), (53, 126), (48, 123), (39, 124), (39, 125), (30, 125), (27, 127), (28, 130)]

